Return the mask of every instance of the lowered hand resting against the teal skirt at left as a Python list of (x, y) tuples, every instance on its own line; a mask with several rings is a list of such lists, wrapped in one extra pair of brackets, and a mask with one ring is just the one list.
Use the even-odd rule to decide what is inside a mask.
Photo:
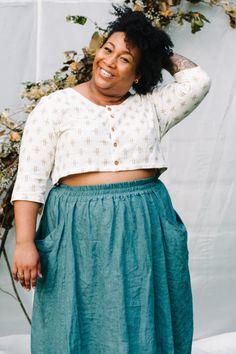
[(16, 244), (12, 276), (22, 287), (30, 291), (36, 287), (36, 279), (42, 278), (39, 253), (33, 241)]

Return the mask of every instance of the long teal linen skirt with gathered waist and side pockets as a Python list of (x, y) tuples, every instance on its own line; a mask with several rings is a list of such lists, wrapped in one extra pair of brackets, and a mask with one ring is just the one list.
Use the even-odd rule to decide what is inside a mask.
[(186, 228), (157, 177), (55, 185), (35, 235), (32, 354), (190, 354)]

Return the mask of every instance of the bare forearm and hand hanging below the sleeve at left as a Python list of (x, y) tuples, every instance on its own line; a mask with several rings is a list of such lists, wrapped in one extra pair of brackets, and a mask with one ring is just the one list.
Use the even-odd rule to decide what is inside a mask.
[[(37, 277), (42, 277), (38, 251), (34, 243), (37, 215), (40, 203), (16, 200), (14, 202), (16, 246), (12, 275), (16, 281), (30, 290), (35, 288)], [(18, 276), (22, 274), (22, 278)]]

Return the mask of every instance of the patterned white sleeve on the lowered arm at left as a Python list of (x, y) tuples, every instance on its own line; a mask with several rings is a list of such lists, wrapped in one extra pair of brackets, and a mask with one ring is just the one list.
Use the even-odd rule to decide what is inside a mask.
[(11, 203), (15, 200), (45, 202), (58, 137), (55, 106), (51, 101), (50, 97), (43, 97), (25, 123)]

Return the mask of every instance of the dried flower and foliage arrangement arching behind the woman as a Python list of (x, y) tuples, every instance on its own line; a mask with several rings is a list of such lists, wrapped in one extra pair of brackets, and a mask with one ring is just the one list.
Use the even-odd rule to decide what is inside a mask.
[[(196, 9), (184, 11), (181, 6), (191, 3), (191, 8)], [(205, 23), (210, 21), (199, 11), (197, 5), (204, 3), (210, 6), (221, 6), (229, 16), (230, 25), (236, 28), (236, 8), (223, 0), (125, 0), (123, 5), (129, 6), (133, 11), (142, 11), (157, 28), (166, 28), (172, 22), (183, 25), (190, 23), (191, 32), (200, 31)], [(115, 12), (118, 7), (113, 5)], [(67, 22), (85, 25), (87, 21), (92, 21), (85, 16), (67, 16)], [(93, 21), (92, 21), (93, 22)], [(0, 112), (0, 257), (3, 254), (7, 263), (12, 286), (15, 292), (15, 298), (19, 301), (22, 310), (30, 323), (30, 318), (20, 299), (14, 281), (11, 275), (10, 263), (5, 250), (5, 243), (9, 230), (13, 227), (13, 206), (10, 203), (12, 189), (15, 183), (20, 142), (23, 134), (25, 120), (16, 122), (14, 116), (24, 112), (25, 116), (29, 114), (38, 101), (50, 93), (67, 87), (73, 87), (79, 83), (85, 82), (91, 77), (92, 62), (98, 48), (101, 47), (106, 39), (106, 30), (93, 22), (95, 32), (92, 35), (90, 43), (82, 49), (82, 54), (76, 51), (64, 52), (65, 59), (62, 68), (55, 72), (53, 77), (41, 82), (25, 82), (21, 98), (24, 105), (17, 112), (10, 112), (5, 109)], [(0, 289), (1, 291), (4, 291)], [(9, 295), (13, 296), (9, 293)]]

